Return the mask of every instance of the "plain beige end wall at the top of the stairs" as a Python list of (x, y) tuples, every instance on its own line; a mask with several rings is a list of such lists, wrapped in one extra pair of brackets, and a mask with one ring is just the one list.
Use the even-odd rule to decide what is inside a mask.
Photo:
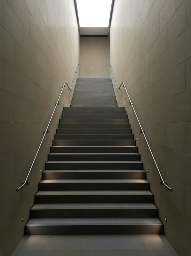
[(110, 77), (109, 62), (108, 37), (80, 37), (80, 77)]

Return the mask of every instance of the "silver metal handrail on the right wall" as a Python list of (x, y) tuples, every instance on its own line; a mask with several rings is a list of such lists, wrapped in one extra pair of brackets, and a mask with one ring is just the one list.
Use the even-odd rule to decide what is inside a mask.
[[(110, 65), (110, 67), (111, 67), (111, 65)], [(111, 72), (112, 72), (112, 74), (113, 74), (112, 68), (111, 68)], [(113, 75), (113, 79), (114, 79), (114, 82), (115, 82), (114, 75)], [(115, 85), (116, 85), (116, 82), (115, 82)], [(121, 90), (120, 88), (121, 88), (122, 85), (123, 85), (123, 87), (125, 88), (125, 91), (127, 92), (127, 89), (126, 89), (126, 86), (124, 85), (124, 82), (121, 83), (121, 85), (120, 85), (119, 88), (117, 88), (117, 85), (116, 85), (117, 91), (119, 92), (119, 91)], [(170, 187), (167, 185), (167, 182), (164, 181), (164, 179), (163, 179), (163, 177), (162, 177), (162, 174), (161, 174), (161, 172), (160, 172), (160, 170), (159, 170), (159, 167), (158, 167), (158, 165), (157, 165), (157, 162), (156, 162), (156, 160), (155, 160), (155, 158), (154, 158), (154, 156), (153, 156), (152, 150), (151, 150), (151, 148), (150, 148), (150, 146), (149, 146), (149, 143), (148, 143), (148, 141), (147, 141), (147, 138), (146, 138), (146, 136), (145, 136), (145, 134), (144, 134), (145, 131), (143, 130), (143, 128), (142, 128), (142, 126), (141, 126), (141, 123), (140, 123), (139, 118), (138, 118), (138, 116), (137, 116), (137, 114), (136, 114), (136, 112), (135, 112), (135, 109), (134, 109), (134, 107), (133, 107), (133, 103), (132, 103), (132, 101), (131, 101), (131, 99), (130, 99), (130, 97), (129, 97), (128, 92), (127, 92), (127, 96), (128, 96), (128, 98), (129, 98), (130, 105), (132, 106), (133, 112), (134, 112), (134, 114), (135, 114), (135, 116), (136, 116), (136, 118), (137, 118), (137, 121), (138, 121), (138, 123), (139, 123), (140, 129), (141, 129), (140, 132), (143, 134), (143, 137), (144, 137), (144, 139), (145, 139), (145, 141), (146, 141), (146, 143), (147, 143), (147, 147), (149, 148), (149, 151), (150, 151), (150, 153), (151, 153), (151, 157), (152, 157), (152, 159), (153, 159), (153, 161), (154, 161), (154, 165), (155, 165), (155, 167), (157, 168), (158, 174), (159, 174), (159, 176), (160, 176), (160, 179), (161, 179), (160, 185), (163, 185), (163, 186), (166, 187), (169, 191), (172, 191), (172, 188), (170, 188)]]

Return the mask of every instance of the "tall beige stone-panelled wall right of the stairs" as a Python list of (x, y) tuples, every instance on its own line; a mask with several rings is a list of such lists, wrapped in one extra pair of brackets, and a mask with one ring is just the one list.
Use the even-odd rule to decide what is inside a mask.
[[(111, 65), (127, 86), (164, 179), (159, 185), (124, 89), (117, 92), (138, 138), (144, 170), (165, 235), (179, 256), (191, 255), (191, 1), (115, 0)], [(111, 75), (111, 74), (110, 74)], [(114, 86), (115, 89), (115, 86)], [(115, 90), (116, 91), (116, 90)], [(126, 99), (125, 99), (126, 98)], [(167, 217), (167, 223), (165, 222)]]

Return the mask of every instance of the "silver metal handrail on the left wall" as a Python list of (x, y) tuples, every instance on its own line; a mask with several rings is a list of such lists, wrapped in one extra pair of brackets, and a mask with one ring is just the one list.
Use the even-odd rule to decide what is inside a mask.
[[(78, 66), (79, 66), (79, 64), (78, 64)], [(78, 69), (78, 66), (77, 66), (77, 69)], [(74, 79), (75, 79), (75, 77), (76, 77), (77, 69), (76, 69), (76, 72), (75, 72)], [(74, 83), (74, 79), (72, 80), (72, 81), (73, 81), (73, 82), (72, 82), (72, 86), (73, 86), (73, 83)], [(33, 166), (34, 166), (34, 162), (35, 162), (36, 159), (37, 159), (37, 156), (38, 156), (38, 153), (39, 153), (40, 148), (41, 148), (41, 146), (42, 146), (42, 143), (43, 143), (43, 141), (44, 141), (44, 138), (45, 138), (45, 136), (46, 136), (46, 134), (47, 134), (47, 132), (48, 132), (48, 128), (49, 128), (49, 125), (50, 125), (50, 123), (51, 123), (51, 121), (52, 121), (52, 117), (53, 117), (53, 115), (54, 115), (54, 112), (56, 111), (56, 107), (57, 107), (57, 105), (59, 105), (59, 100), (60, 100), (62, 91), (63, 91), (63, 89), (64, 89), (65, 86), (68, 87), (67, 90), (72, 91), (72, 90), (71, 90), (72, 87), (71, 87), (71, 89), (70, 89), (70, 87), (68, 86), (67, 82), (65, 81), (65, 82), (64, 82), (64, 85), (62, 86), (62, 90), (61, 90), (60, 95), (59, 95), (59, 97), (58, 97), (57, 103), (55, 103), (54, 110), (53, 110), (52, 115), (51, 115), (51, 117), (50, 117), (50, 120), (49, 120), (49, 122), (48, 122), (47, 128), (46, 128), (46, 130), (44, 131), (44, 135), (43, 135), (43, 137), (42, 137), (42, 140), (41, 140), (41, 142), (40, 142), (40, 145), (39, 145), (39, 147), (38, 147), (38, 150), (37, 150), (37, 152), (36, 152), (36, 155), (34, 156), (34, 159), (33, 159), (33, 161), (32, 161), (32, 164), (31, 164), (31, 166), (30, 166), (30, 169), (29, 169), (29, 171), (28, 171), (28, 174), (27, 174), (27, 176), (26, 176), (24, 182), (21, 183), (21, 186), (16, 189), (17, 192), (20, 191), (24, 186), (29, 185), (29, 176), (30, 176), (30, 174), (31, 174), (31, 170), (32, 170), (32, 168), (33, 168)]]

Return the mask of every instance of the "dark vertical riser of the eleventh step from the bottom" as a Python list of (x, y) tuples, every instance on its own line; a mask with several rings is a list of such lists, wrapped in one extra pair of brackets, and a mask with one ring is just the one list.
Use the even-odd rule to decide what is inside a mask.
[(57, 129), (57, 134), (132, 134), (132, 129)]

